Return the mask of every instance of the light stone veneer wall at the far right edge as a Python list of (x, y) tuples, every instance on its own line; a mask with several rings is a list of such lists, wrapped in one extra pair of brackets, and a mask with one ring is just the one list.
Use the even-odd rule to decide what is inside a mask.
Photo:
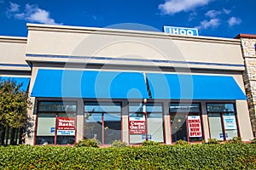
[(253, 136), (256, 137), (256, 35), (239, 35), (241, 50), (246, 70), (243, 79), (247, 94), (247, 103), (253, 128)]

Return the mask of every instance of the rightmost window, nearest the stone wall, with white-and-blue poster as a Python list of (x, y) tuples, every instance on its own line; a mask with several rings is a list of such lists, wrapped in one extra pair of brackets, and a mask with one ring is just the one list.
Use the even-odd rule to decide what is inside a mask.
[(233, 104), (207, 104), (211, 139), (227, 140), (238, 136)]

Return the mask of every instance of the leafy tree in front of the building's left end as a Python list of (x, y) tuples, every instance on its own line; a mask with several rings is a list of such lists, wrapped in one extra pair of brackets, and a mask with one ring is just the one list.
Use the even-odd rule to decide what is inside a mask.
[[(26, 91), (21, 90), (22, 83), (17, 84), (10, 79), (0, 82), (0, 128), (1, 144), (17, 144), (29, 124), (27, 110), (32, 103)], [(5, 142), (4, 142), (4, 139)], [(19, 140), (19, 144), (21, 141)]]

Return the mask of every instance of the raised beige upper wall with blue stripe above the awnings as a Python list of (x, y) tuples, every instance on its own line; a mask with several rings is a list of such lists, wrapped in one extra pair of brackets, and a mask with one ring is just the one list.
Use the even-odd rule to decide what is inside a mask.
[[(182, 66), (240, 71), (244, 69), (241, 43), (234, 39), (182, 37), (162, 32), (74, 26), (29, 24), (28, 29), (26, 54), (38, 54), (37, 57), (26, 57), (31, 61)], [(67, 59), (60, 56), (71, 57)], [(77, 56), (79, 58), (73, 58)], [(91, 59), (91, 56), (95, 58)], [(163, 62), (154, 62), (153, 59)]]

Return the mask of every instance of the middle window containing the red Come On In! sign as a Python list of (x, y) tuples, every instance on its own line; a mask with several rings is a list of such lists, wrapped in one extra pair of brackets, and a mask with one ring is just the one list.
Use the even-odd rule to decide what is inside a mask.
[(131, 144), (142, 143), (144, 140), (164, 142), (162, 105), (131, 103), (129, 131)]

